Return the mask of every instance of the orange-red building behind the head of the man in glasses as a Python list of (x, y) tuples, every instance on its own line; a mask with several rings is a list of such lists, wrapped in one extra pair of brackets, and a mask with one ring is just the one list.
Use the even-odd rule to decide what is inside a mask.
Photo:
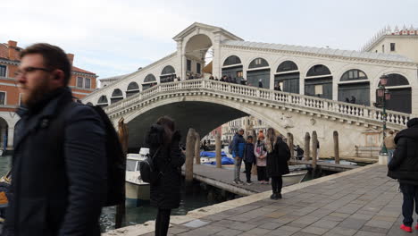
[[(3, 149), (13, 146), (14, 125), (19, 120), (19, 115), (14, 111), (21, 104), (17, 81), (14, 73), (20, 64), (19, 54), (22, 48), (16, 41), (9, 40), (0, 44), (0, 147)], [(74, 55), (68, 54), (71, 63)], [(69, 87), (74, 97), (83, 98), (96, 89), (96, 74), (72, 66)]]

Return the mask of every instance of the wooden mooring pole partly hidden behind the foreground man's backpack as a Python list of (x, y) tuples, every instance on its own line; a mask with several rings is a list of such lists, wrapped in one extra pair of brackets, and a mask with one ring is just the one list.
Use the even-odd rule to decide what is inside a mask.
[[(124, 123), (123, 117), (118, 122), (118, 134), (119, 134), (119, 141), (121, 142), (121, 147), (123, 150), (123, 156), (128, 154), (128, 138), (129, 138), (129, 131), (128, 125)], [(112, 188), (112, 186), (110, 186)], [(123, 195), (125, 195), (125, 187), (123, 187)], [(125, 197), (123, 197), (125, 198)], [(123, 219), (125, 218), (125, 201), (121, 204), (116, 206), (116, 215), (114, 221), (114, 228), (119, 229), (122, 226)]]

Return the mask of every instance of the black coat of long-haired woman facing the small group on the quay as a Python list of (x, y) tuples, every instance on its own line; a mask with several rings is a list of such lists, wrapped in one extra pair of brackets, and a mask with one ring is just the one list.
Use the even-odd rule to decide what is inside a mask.
[(290, 173), (288, 171), (289, 159), (290, 151), (288, 145), (280, 137), (277, 138), (272, 152), (267, 153), (267, 174), (270, 177), (274, 177)]

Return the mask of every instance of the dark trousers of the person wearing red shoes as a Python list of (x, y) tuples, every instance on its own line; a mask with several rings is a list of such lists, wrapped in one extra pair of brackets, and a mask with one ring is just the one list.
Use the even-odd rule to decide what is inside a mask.
[(415, 212), (418, 214), (418, 186), (400, 183), (400, 189), (404, 195), (404, 202), (402, 203), (402, 215), (404, 215), (405, 226), (412, 226), (414, 219), (412, 217), (414, 213), (414, 199), (415, 199)]

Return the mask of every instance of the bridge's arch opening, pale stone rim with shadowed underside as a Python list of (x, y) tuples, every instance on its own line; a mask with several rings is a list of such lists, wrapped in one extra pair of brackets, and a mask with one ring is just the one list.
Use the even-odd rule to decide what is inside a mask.
[(247, 115), (253, 115), (256, 119), (262, 120), (283, 135), (287, 134), (288, 131), (280, 125), (280, 121), (272, 115), (263, 114), (260, 109), (254, 109), (255, 106), (243, 106), (238, 101), (226, 98), (213, 99), (209, 96), (170, 97), (157, 100), (125, 116), (125, 122), (130, 127), (129, 146), (145, 146), (146, 131), (158, 117), (163, 115), (168, 115), (176, 121), (183, 140), (189, 128), (194, 128), (203, 137), (223, 123)]

